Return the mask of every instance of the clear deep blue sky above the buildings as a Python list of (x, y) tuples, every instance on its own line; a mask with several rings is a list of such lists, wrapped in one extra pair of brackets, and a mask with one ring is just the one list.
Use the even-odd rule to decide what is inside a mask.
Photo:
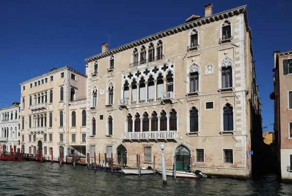
[[(256, 79), (262, 101), (263, 126), (272, 131), (274, 102), (273, 51), (292, 49), (292, 1), (264, 0), (1, 0), (0, 108), (20, 100), (20, 82), (71, 66), (85, 73), (85, 58), (185, 22), (192, 14), (204, 16), (244, 4), (253, 33)], [(265, 130), (267, 131), (267, 130)]]

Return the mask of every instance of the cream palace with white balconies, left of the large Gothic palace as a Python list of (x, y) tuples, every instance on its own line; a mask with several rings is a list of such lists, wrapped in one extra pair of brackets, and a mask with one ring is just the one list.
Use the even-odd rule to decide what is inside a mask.
[(24, 153), (38, 150), (40, 156), (42, 150), (48, 158), (53, 150), (54, 160), (58, 160), (61, 153), (69, 156), (73, 149), (71, 132), (79, 134), (82, 131), (76, 122), (72, 127), (72, 112), (75, 111), (75, 120), (81, 116), (77, 107), (80, 104), (75, 100), (86, 97), (86, 76), (65, 66), (53, 68), (20, 85), (19, 139)]

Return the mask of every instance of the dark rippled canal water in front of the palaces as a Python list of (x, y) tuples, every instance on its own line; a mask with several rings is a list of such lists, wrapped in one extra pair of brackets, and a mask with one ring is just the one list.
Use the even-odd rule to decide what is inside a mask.
[(260, 180), (125, 176), (84, 166), (0, 161), (0, 196), (291, 196), (292, 185), (274, 175)]

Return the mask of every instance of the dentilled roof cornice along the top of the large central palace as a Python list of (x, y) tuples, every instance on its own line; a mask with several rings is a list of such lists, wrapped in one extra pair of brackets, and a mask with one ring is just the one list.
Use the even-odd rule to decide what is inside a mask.
[[(194, 20), (194, 21), (191, 21), (191, 22), (188, 22), (188, 23), (184, 23), (184, 24), (181, 24), (179, 26), (164, 30), (162, 32), (149, 35), (149, 36), (144, 37), (142, 39), (139, 39), (139, 40), (130, 42), (128, 44), (125, 44), (123, 46), (111, 49), (111, 50), (109, 50), (107, 52), (91, 56), (91, 57), (85, 59), (85, 61), (87, 63), (90, 63), (90, 62), (96, 61), (98, 59), (102, 59), (102, 58), (105, 58), (107, 56), (110, 56), (112, 54), (116, 54), (118, 52), (121, 52), (121, 51), (124, 51), (124, 50), (127, 50), (127, 49), (132, 49), (134, 47), (143, 45), (143, 44), (151, 42), (153, 40), (157, 40), (157, 39), (160, 39), (160, 38), (163, 38), (163, 37), (175, 34), (175, 33), (180, 33), (180, 32), (186, 31), (188, 29), (192, 29), (194, 27), (198, 27), (198, 26), (201, 26), (201, 25), (204, 25), (204, 24), (208, 24), (208, 23), (211, 23), (211, 22), (219, 21), (221, 19), (225, 19), (225, 18), (232, 17), (234, 15), (239, 15), (239, 14), (244, 14), (246, 29), (249, 32), (250, 39), (252, 39), (252, 32), (251, 32), (251, 29), (250, 29), (250, 27), (248, 25), (248, 19), (247, 19), (247, 14), (246, 13), (247, 13), (247, 6), (243, 5), (243, 6), (231, 9), (231, 10), (220, 12), (218, 14), (202, 17), (202, 18), (199, 18), (197, 20)], [(252, 45), (251, 45), (251, 52), (252, 52), (252, 55), (254, 56)]]

